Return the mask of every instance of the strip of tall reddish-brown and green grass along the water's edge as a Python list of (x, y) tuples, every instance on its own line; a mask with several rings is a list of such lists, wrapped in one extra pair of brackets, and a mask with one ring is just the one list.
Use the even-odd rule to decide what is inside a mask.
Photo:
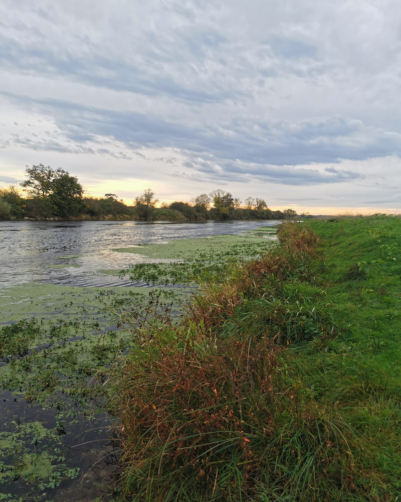
[(208, 283), (174, 324), (148, 313), (114, 374), (128, 500), (353, 500), (338, 419), (300, 393), (283, 344), (337, 327), (317, 284), (318, 237), (282, 245)]

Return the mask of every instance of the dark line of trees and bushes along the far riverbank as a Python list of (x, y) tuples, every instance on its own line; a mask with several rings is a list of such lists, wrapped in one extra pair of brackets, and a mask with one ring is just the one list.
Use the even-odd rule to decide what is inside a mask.
[[(0, 189), (0, 219), (72, 219), (72, 220), (224, 220), (224, 219), (293, 219), (293, 209), (274, 211), (266, 201), (248, 197), (242, 202), (224, 190), (200, 194), (190, 202), (162, 203), (148, 188), (127, 206), (114, 193), (104, 197), (85, 196), (77, 177), (64, 169), (43, 164), (28, 167), (27, 180), (19, 187)], [(303, 217), (308, 217), (304, 214)]]

